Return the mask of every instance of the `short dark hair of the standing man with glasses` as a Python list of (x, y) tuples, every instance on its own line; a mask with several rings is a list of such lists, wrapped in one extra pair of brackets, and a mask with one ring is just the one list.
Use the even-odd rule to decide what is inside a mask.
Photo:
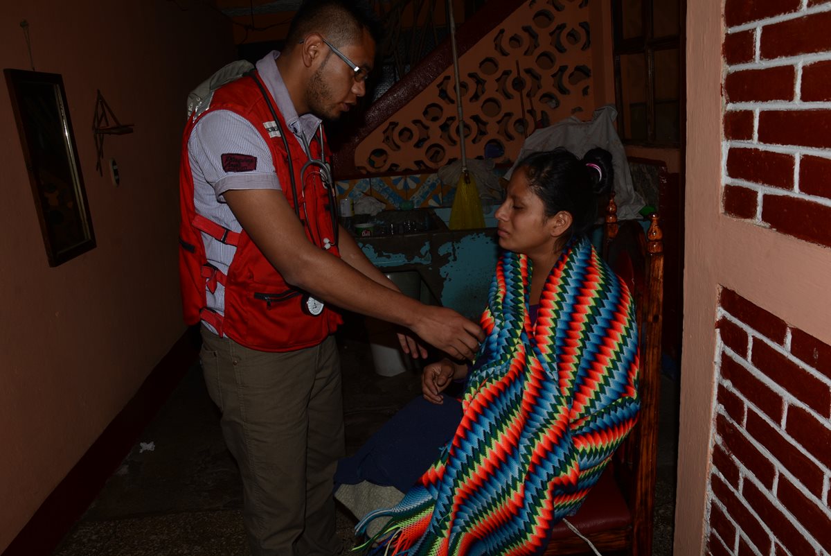
[(293, 47), (309, 33), (319, 32), (336, 47), (361, 42), (363, 32), (381, 41), (381, 23), (363, 0), (305, 0), (288, 27), (286, 43)]

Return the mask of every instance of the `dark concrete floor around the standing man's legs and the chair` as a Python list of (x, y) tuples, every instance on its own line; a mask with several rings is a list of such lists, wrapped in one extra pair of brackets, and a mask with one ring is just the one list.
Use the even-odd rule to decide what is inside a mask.
[[(352, 325), (351, 327), (349, 325)], [(360, 321), (339, 335), (347, 454), (407, 401), (416, 373), (376, 375)], [(659, 439), (655, 556), (672, 554), (677, 427), (676, 383), (664, 379)], [(148, 446), (152, 443), (152, 449)], [(219, 431), (219, 414), (193, 365), (101, 494), (53, 556), (243, 556), (242, 489)], [(355, 519), (341, 508), (338, 534), (352, 548)]]

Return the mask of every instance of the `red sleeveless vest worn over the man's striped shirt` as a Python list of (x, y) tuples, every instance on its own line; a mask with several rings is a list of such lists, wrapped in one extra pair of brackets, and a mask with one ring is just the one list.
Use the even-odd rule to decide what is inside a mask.
[[(331, 211), (334, 211), (335, 207), (329, 206), (329, 196), (314, 168), (306, 171), (306, 187), (302, 188), (304, 180), (300, 171), (303, 164), (308, 161), (308, 156), (298, 141), (291, 136), (283, 114), (278, 112), (277, 103), (270, 94), (269, 101), (277, 113), (283, 133), (288, 134), (286, 139), (291, 165), (287, 163), (283, 139), (269, 137), (263, 125), (266, 122), (273, 122), (274, 117), (253, 77), (241, 77), (235, 82), (220, 87), (214, 92), (209, 109), (189, 119), (184, 129), (179, 172), (181, 209), (179, 280), (182, 289), (184, 321), (188, 325), (195, 325), (200, 320), (204, 320), (214, 326), (220, 336), (228, 336), (238, 344), (252, 350), (290, 351), (311, 347), (322, 342), (342, 322), (341, 315), (329, 309), (328, 305), (321, 315), (308, 315), (302, 310), (305, 305), (304, 292), (293, 288), (283, 280), (283, 276), (274, 270), (245, 231), (234, 233), (196, 214), (194, 180), (188, 157), (190, 132), (200, 117), (214, 110), (231, 110), (237, 113), (251, 122), (268, 144), (283, 194), (293, 208), (295, 199), (289, 172), (294, 172), (298, 194), (303, 191), (300, 195), (305, 199), (302, 203), (305, 207), (300, 207), (300, 216), (302, 220), (308, 218), (308, 221), (304, 222), (308, 240), (321, 248), (324, 237), (334, 243)], [(310, 145), (312, 156), (321, 160), (320, 142), (317, 140), (310, 142), (312, 143)], [(227, 276), (209, 265), (200, 231), (237, 247)], [(333, 245), (327, 251), (333, 256), (340, 256), (337, 246)], [(213, 292), (217, 282), (225, 286), (224, 317), (206, 306), (205, 291)]]

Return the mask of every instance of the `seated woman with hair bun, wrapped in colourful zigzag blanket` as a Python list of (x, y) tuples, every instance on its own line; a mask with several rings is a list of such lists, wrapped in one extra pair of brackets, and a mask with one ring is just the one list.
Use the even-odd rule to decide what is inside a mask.
[[(553, 525), (577, 511), (632, 429), (632, 297), (586, 237), (611, 168), (602, 149), (582, 161), (557, 149), (514, 171), (496, 212), (504, 252), (482, 315), (487, 339), (470, 371), (443, 360), (422, 380), (425, 400), (443, 407), (445, 387), (466, 380), (458, 414), (441, 417), (450, 441), (400, 503), (358, 524), (363, 534), (390, 518), (365, 544), (373, 554), (542, 554)], [(399, 424), (430, 429), (417, 418)], [(400, 451), (406, 464), (419, 449)], [(394, 474), (394, 459), (386, 467)]]

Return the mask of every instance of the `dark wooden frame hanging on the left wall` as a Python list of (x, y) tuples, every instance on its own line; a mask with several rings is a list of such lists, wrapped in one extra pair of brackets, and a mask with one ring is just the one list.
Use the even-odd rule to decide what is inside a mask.
[(59, 73), (5, 69), (49, 266), (96, 246)]

